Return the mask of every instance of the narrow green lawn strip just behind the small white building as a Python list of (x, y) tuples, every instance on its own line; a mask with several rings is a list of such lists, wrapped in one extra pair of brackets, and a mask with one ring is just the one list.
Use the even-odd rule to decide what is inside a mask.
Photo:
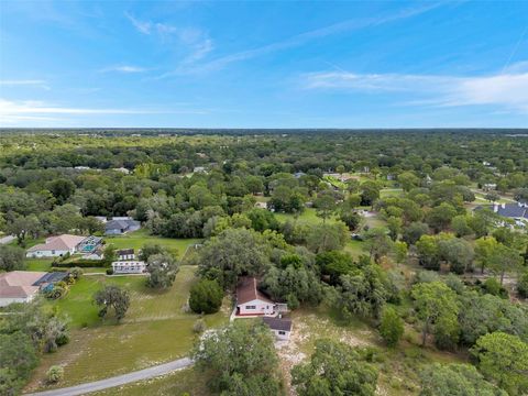
[(190, 244), (201, 242), (199, 239), (173, 239), (150, 235), (144, 229), (124, 235), (106, 237), (105, 240), (107, 243), (112, 243), (118, 249), (135, 249), (136, 251), (143, 248), (147, 242), (157, 243), (179, 257), (183, 256)]

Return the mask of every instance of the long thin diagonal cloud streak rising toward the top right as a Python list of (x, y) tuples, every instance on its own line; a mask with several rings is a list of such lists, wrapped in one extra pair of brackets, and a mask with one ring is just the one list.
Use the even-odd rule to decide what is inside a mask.
[(405, 9), (386, 16), (375, 16), (375, 18), (367, 18), (367, 19), (350, 19), (350, 20), (341, 21), (328, 26), (323, 26), (320, 29), (316, 29), (312, 31), (308, 31), (308, 32), (304, 32), (304, 33), (290, 36), (279, 42), (271, 43), (271, 44), (252, 48), (252, 50), (241, 51), (234, 54), (229, 54), (229, 55), (219, 57), (217, 59), (213, 59), (209, 63), (195, 66), (193, 67), (193, 69), (177, 68), (170, 73), (164, 74), (162, 77), (168, 77), (170, 75), (177, 75), (177, 74), (204, 73), (204, 72), (220, 69), (232, 63), (242, 62), (242, 61), (264, 56), (267, 54), (272, 54), (278, 51), (297, 47), (297, 46), (307, 44), (314, 40), (323, 38), (323, 37), (343, 33), (343, 32), (373, 28), (373, 26), (385, 24), (385, 23), (416, 16), (425, 12), (428, 12), (430, 10), (433, 10), (440, 6), (442, 6), (442, 3), (429, 3), (425, 7)]

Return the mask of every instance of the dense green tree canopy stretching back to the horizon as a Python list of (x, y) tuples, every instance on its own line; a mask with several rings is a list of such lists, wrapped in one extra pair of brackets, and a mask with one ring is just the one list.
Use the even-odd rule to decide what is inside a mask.
[[(255, 276), (290, 309), (360, 319), (386, 348), (411, 328), (424, 348), (466, 359), (420, 367), (421, 395), (526, 395), (528, 224), (494, 205), (528, 201), (527, 153), (526, 130), (3, 131), (0, 231), (16, 240), (0, 246), (0, 270), (24, 270), (31, 241), (101, 234), (96, 217), (130, 216), (151, 235), (204, 240), (180, 263), (197, 265), (204, 295)], [(6, 340), (35, 339), (7, 322)], [(211, 392), (283, 392), (262, 329), (219, 338), (262, 340), (251, 341), (262, 362), (226, 367), (249, 358), (208, 339), (195, 358), (218, 380)], [(290, 385), (374, 395), (376, 354), (320, 340)]]

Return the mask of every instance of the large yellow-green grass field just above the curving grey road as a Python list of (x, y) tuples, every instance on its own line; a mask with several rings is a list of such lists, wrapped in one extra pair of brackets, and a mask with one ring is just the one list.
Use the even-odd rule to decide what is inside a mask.
[[(195, 272), (196, 267), (183, 266), (173, 287), (165, 292), (146, 288), (143, 276), (85, 276), (65, 298), (50, 302), (72, 319), (72, 341), (43, 356), (26, 391), (42, 388), (45, 372), (54, 364), (65, 369), (64, 380), (57, 385), (63, 387), (186, 355), (196, 339), (193, 324), (199, 318), (183, 310)], [(91, 304), (94, 293), (105, 284), (117, 284), (130, 292), (131, 305), (119, 324), (111, 317), (99, 319)], [(226, 323), (229, 310), (227, 302), (221, 312), (206, 316), (207, 326)]]

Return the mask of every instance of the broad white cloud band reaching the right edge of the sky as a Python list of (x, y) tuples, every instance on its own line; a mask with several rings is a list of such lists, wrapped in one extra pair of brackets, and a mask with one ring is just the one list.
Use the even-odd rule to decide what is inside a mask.
[(528, 113), (528, 68), (526, 63), (487, 76), (441, 76), (411, 74), (355, 74), (344, 70), (301, 76), (306, 89), (331, 89), (377, 94), (405, 92), (405, 105), (436, 107), (499, 106)]

